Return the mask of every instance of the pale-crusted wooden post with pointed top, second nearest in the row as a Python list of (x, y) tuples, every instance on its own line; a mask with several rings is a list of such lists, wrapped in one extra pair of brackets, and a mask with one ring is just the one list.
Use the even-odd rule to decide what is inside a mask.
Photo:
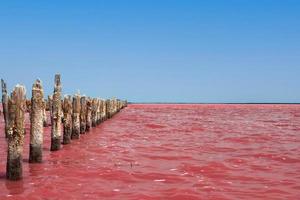
[(32, 86), (31, 98), (29, 146), (30, 163), (40, 163), (43, 160), (44, 106), (43, 87), (40, 80), (36, 80)]

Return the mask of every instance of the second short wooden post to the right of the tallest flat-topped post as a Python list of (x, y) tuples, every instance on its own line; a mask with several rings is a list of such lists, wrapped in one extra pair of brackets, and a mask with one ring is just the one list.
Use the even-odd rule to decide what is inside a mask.
[(79, 139), (80, 137), (80, 95), (75, 94), (73, 97), (73, 129), (72, 139)]

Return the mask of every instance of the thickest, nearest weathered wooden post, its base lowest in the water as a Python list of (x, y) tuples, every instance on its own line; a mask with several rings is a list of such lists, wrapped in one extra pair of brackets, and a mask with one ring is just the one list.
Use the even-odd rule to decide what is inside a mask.
[(22, 178), (25, 111), (26, 89), (22, 85), (17, 85), (8, 99), (6, 178), (9, 180)]

